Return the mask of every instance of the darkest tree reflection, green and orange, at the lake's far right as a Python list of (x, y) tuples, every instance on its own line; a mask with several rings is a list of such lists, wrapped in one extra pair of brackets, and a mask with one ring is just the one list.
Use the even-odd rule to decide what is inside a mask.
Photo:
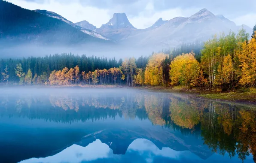
[(201, 119), (201, 136), (213, 151), (238, 154), (245, 160), (256, 154), (256, 110), (226, 103), (209, 102)]

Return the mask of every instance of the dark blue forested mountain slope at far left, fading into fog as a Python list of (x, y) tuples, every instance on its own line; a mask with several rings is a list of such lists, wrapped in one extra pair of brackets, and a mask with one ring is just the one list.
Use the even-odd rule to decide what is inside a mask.
[[(34, 44), (102, 42), (67, 23), (0, 0), (0, 41)], [(3, 45), (3, 44), (2, 44)]]

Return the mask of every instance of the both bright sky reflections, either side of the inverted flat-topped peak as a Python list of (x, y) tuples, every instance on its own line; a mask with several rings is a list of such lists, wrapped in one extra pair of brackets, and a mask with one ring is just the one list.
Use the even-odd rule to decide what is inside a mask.
[[(126, 151), (127, 156), (136, 152), (139, 157), (143, 158), (147, 163), (154, 162), (155, 157), (168, 157), (174, 160), (182, 158), (193, 158), (193, 160), (201, 160), (195, 154), (190, 151), (174, 151), (171, 148), (162, 148), (161, 150), (156, 145), (147, 139), (136, 139), (128, 147)], [(125, 160), (125, 155), (113, 154), (112, 149), (101, 140), (96, 139), (86, 147), (79, 145), (71, 145), (58, 154), (45, 158), (31, 158), (21, 161), (20, 163), (60, 163), (60, 162), (72, 162), (80, 163), (82, 161), (92, 161), (98, 159), (114, 159), (121, 161)], [(130, 158), (131, 162), (133, 158)]]

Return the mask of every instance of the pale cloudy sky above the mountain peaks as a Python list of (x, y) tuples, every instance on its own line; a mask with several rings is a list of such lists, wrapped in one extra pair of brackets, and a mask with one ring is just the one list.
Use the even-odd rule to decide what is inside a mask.
[[(29, 2), (47, 2), (49, 0), (24, 0)], [(242, 15), (248, 11), (255, 11), (255, 0), (56, 0), (61, 3), (77, 3), (83, 6), (93, 6), (99, 9), (122, 10), (130, 15), (138, 15), (148, 3), (154, 6), (155, 11), (168, 9), (207, 8), (218, 14)], [(239, 12), (238, 12), (239, 11)]]

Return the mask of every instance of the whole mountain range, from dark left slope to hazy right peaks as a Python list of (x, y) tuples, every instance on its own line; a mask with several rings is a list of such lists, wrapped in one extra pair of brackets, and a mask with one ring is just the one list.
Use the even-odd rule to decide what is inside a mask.
[[(88, 21), (73, 23), (47, 10), (27, 10), (0, 0), (0, 41), (37, 42), (43, 45), (82, 44), (85, 42), (118, 42), (119, 45), (169, 48), (182, 42), (204, 41), (214, 34), (237, 31), (233, 21), (202, 9), (189, 18), (159, 18), (151, 27), (135, 28), (125, 13), (115, 13), (100, 28)], [(252, 29), (244, 25), (251, 33)]]

